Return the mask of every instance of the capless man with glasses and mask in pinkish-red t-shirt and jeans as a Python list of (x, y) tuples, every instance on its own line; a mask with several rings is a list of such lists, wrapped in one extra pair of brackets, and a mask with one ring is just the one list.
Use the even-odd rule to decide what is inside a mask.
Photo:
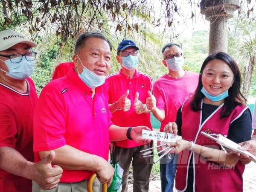
[[(154, 96), (147, 99), (147, 108), (161, 122), (160, 131), (163, 132), (169, 122), (176, 120), (177, 110), (185, 99), (195, 92), (199, 75), (183, 70), (184, 56), (180, 45), (168, 43), (163, 47), (162, 54), (162, 62), (169, 73), (154, 82)], [(177, 155), (160, 160), (162, 192), (173, 192), (175, 161), (177, 162)]]

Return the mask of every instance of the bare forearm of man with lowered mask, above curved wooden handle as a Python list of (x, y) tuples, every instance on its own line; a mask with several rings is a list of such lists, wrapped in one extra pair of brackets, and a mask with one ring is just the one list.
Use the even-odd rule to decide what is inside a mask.
[[(106, 161), (102, 157), (86, 153), (70, 145), (64, 145), (53, 151), (55, 151), (56, 155), (52, 163), (67, 170), (98, 171), (101, 167), (101, 162)], [(49, 151), (39, 152), (41, 159), (48, 154)]]

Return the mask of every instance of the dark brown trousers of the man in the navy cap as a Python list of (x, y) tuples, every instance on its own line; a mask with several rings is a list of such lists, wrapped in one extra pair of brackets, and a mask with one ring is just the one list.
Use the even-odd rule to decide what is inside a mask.
[[(113, 162), (119, 162), (119, 166), (124, 169), (122, 176), (122, 192), (128, 191), (127, 178), (130, 165), (133, 167), (133, 192), (148, 192), (149, 176), (153, 165), (153, 158), (143, 158), (141, 150), (150, 148), (153, 142), (133, 148), (122, 148), (116, 146)], [(152, 162), (151, 162), (152, 161)]]

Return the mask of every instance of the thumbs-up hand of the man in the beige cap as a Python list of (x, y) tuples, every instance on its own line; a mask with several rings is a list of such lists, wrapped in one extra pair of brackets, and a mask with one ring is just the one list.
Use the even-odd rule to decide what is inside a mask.
[(62, 169), (60, 166), (52, 167), (52, 160), (55, 158), (55, 152), (50, 151), (47, 157), (44, 157), (38, 163), (33, 164), (34, 170), (32, 170), (32, 180), (44, 189), (49, 190), (58, 186), (60, 182)]

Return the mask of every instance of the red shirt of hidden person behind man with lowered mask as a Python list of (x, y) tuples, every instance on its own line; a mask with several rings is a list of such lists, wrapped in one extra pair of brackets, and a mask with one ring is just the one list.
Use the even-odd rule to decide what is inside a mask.
[(52, 80), (67, 76), (67, 73), (70, 71), (70, 69), (73, 69), (74, 67), (74, 62), (64, 62), (58, 64), (53, 72)]

